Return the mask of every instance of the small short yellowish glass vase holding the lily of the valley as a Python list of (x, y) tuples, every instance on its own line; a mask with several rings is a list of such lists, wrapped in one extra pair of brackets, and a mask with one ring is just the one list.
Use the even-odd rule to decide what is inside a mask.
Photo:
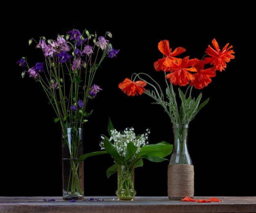
[(133, 200), (136, 191), (134, 189), (134, 166), (128, 168), (117, 165), (117, 191), (118, 200)]

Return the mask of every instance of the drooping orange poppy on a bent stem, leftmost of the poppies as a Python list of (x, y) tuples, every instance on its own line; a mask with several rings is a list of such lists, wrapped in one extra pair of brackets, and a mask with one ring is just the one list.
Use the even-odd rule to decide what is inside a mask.
[(118, 87), (124, 91), (124, 93), (127, 93), (128, 96), (134, 96), (138, 95), (138, 93), (141, 95), (146, 91), (144, 88), (147, 85), (144, 81), (136, 81), (133, 82), (129, 78), (126, 78), (123, 82), (118, 84)]

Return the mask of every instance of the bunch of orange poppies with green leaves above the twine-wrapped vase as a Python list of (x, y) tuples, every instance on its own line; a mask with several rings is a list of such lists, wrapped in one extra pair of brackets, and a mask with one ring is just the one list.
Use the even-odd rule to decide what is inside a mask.
[[(210, 45), (205, 51), (202, 59), (189, 56), (177, 58), (177, 55), (184, 53), (186, 49), (177, 47), (173, 52), (169, 47), (168, 40), (162, 40), (158, 43), (158, 49), (164, 57), (154, 63), (156, 71), (163, 71), (166, 88), (161, 86), (147, 73), (132, 73), (131, 78), (119, 83), (119, 88), (128, 96), (146, 94), (153, 98), (154, 104), (160, 104), (164, 111), (169, 115), (173, 124), (189, 124), (195, 118), (195, 115), (209, 102), (209, 98), (200, 104), (202, 93), (198, 98), (192, 98), (192, 89), (202, 89), (211, 83), (211, 78), (216, 76), (216, 71), (224, 71), (228, 62), (234, 59), (234, 51), (225, 45), (222, 51), (216, 39), (212, 40), (213, 47)], [(187, 86), (183, 92), (178, 88), (180, 102), (176, 100), (176, 93), (173, 85), (180, 87)], [(150, 89), (144, 87), (149, 86)], [(165, 93), (164, 93), (165, 91)], [(178, 104), (180, 103), (180, 105)]]

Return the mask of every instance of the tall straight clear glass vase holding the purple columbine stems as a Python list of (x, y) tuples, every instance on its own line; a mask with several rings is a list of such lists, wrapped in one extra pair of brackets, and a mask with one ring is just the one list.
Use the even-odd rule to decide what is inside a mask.
[(81, 155), (83, 155), (83, 129), (62, 129), (63, 200), (84, 198), (83, 162), (76, 162)]

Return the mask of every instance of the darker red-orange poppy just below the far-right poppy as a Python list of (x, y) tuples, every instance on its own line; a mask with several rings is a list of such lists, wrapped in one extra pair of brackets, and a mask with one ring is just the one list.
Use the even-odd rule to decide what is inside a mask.
[(216, 71), (211, 68), (204, 69), (204, 61), (198, 60), (192, 65), (197, 72), (194, 74), (195, 79), (191, 80), (190, 85), (193, 85), (196, 89), (202, 89), (211, 83), (211, 78), (216, 76)]

